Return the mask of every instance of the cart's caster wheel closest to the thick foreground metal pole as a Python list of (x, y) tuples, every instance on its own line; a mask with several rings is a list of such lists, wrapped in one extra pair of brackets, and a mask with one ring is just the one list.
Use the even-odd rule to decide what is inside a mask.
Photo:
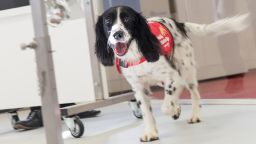
[(78, 116), (64, 118), (64, 121), (73, 137), (80, 138), (84, 134), (84, 124)]

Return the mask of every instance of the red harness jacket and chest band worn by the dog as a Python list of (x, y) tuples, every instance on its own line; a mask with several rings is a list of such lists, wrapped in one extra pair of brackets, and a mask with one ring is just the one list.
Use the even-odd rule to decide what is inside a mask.
[[(161, 44), (161, 54), (169, 57), (172, 54), (173, 46), (174, 46), (173, 36), (171, 32), (168, 30), (168, 28), (165, 25), (161, 24), (160, 22), (150, 21), (148, 22), (148, 25), (150, 27), (151, 32), (157, 37), (157, 39)], [(125, 61), (121, 61), (119, 58), (116, 58), (115, 64), (116, 64), (116, 69), (118, 73), (121, 73), (120, 66), (124, 68), (128, 68), (131, 66), (139, 65), (145, 61), (146, 61), (145, 57), (140, 58), (136, 62), (125, 62)]]

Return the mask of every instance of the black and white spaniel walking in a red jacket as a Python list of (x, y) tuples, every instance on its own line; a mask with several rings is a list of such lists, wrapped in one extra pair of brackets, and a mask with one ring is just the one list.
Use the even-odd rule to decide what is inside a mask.
[[(145, 132), (141, 141), (158, 139), (155, 119), (147, 97), (148, 86), (160, 83), (165, 89), (162, 111), (178, 119), (179, 95), (187, 88), (192, 98), (189, 123), (200, 122), (200, 94), (190, 34), (224, 34), (243, 30), (248, 14), (216, 21), (208, 25), (179, 23), (165, 17), (145, 19), (130, 7), (117, 6), (105, 11), (96, 24), (96, 55), (105, 66), (116, 64), (135, 92), (143, 112)], [(149, 23), (160, 25), (154, 35)], [(168, 32), (166, 32), (168, 30)], [(165, 37), (169, 33), (171, 37)], [(163, 54), (162, 47), (172, 52)]]

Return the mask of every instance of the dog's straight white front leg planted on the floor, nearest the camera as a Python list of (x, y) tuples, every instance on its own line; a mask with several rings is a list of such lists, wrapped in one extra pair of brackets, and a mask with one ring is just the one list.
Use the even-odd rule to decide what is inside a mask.
[(134, 91), (136, 100), (140, 104), (145, 125), (145, 131), (140, 140), (142, 142), (158, 140), (158, 131), (156, 128), (155, 119), (153, 117), (150, 100), (148, 97), (146, 97), (144, 88), (142, 86), (134, 88)]

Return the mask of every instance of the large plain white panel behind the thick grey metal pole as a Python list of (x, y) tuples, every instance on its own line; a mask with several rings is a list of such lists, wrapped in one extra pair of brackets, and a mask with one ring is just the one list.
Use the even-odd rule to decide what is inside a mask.
[[(84, 19), (49, 31), (59, 101), (94, 101)], [(30, 7), (0, 12), (0, 109), (40, 105), (34, 51), (19, 48), (33, 37)]]

